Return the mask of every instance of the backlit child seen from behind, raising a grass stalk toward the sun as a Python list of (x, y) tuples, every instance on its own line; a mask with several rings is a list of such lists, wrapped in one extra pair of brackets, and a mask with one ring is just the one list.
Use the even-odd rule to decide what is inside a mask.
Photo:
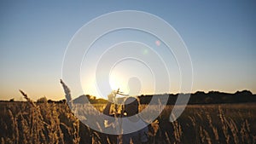
[[(119, 117), (121, 122), (111, 122), (113, 124), (120, 124), (121, 134), (117, 139), (117, 143), (130, 144), (143, 144), (148, 142), (148, 127), (142, 118), (138, 116), (139, 101), (135, 97), (128, 97), (125, 99), (125, 104), (120, 114), (109, 114), (111, 104), (114, 100), (114, 93), (108, 95), (108, 104), (103, 110), (103, 113), (108, 116)], [(108, 120), (108, 119), (106, 119)]]

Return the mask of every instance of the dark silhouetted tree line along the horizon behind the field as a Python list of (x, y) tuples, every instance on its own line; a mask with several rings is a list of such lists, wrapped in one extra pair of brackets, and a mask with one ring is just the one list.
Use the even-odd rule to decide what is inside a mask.
[[(218, 91), (210, 91), (205, 93), (203, 91), (197, 91), (194, 94), (163, 94), (163, 95), (140, 95), (138, 96), (141, 104), (148, 104), (152, 97), (161, 97), (167, 96), (168, 101), (155, 101), (154, 104), (158, 105), (159, 102), (166, 103), (167, 105), (173, 105), (177, 101), (177, 96), (190, 96), (189, 97), (189, 104), (221, 104), (221, 103), (246, 103), (246, 102), (256, 102), (256, 95), (249, 90), (242, 90), (237, 91), (235, 94), (218, 92)], [(122, 103), (125, 98), (118, 98), (118, 103)], [(161, 100), (161, 99), (160, 99)], [(46, 98), (38, 99), (38, 103), (48, 101), (49, 103), (66, 103), (66, 100), (61, 101), (51, 101), (46, 100)], [(14, 99), (11, 99), (10, 102), (14, 102)], [(105, 104), (108, 101), (105, 99), (97, 99), (95, 96), (92, 95), (80, 95), (78, 98), (73, 100), (73, 103), (88, 103), (91, 104)], [(177, 104), (182, 104), (183, 101)]]

